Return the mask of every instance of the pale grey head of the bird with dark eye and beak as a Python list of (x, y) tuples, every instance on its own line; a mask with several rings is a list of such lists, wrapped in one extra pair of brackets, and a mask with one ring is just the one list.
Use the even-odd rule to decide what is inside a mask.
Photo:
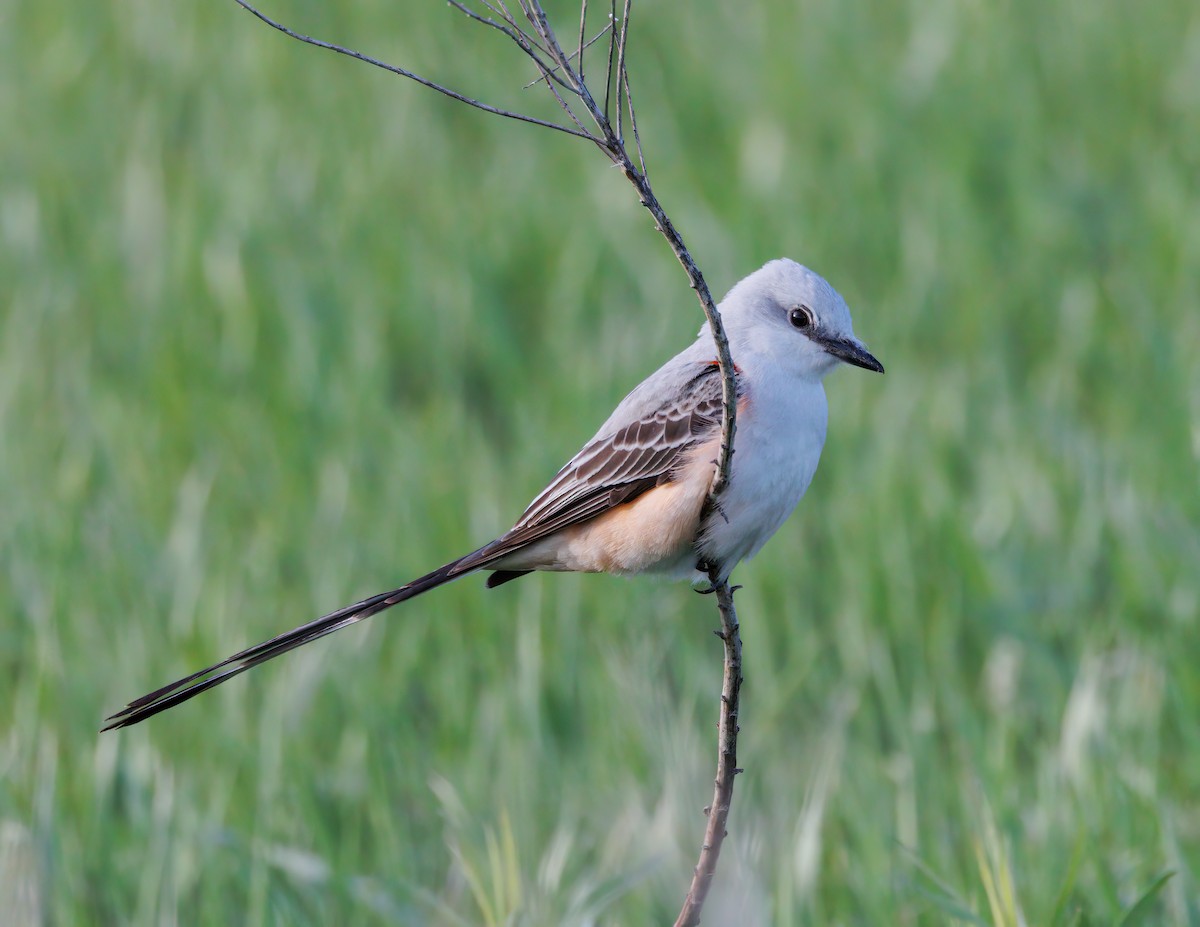
[[(796, 376), (823, 377), (839, 363), (883, 372), (854, 337), (846, 300), (826, 280), (794, 261), (763, 264), (720, 304), (734, 363), (744, 352), (775, 361)], [(701, 333), (708, 335), (707, 325)]]

